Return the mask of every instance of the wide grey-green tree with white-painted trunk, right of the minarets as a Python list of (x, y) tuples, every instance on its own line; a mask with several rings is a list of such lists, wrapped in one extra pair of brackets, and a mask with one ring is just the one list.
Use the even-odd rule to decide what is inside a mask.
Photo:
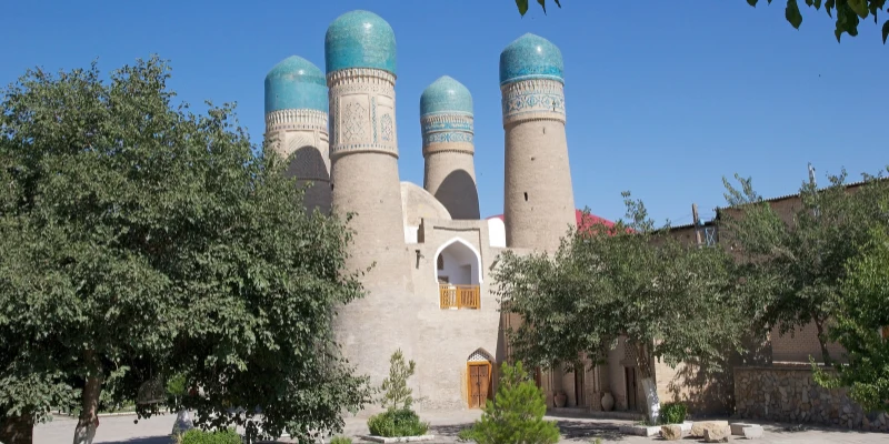
[(622, 339), (643, 381), (656, 359), (723, 370), (747, 329), (731, 258), (680, 244), (625, 198), (629, 222), (578, 230), (552, 255), (501, 255), (492, 278), (502, 310), (522, 319), (508, 332), (517, 359), (575, 369), (603, 363)]

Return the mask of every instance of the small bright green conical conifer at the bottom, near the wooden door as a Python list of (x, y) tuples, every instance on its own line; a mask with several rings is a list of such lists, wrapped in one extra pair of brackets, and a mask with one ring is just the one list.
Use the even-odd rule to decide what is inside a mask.
[(479, 444), (553, 444), (559, 441), (559, 427), (545, 421), (547, 402), (522, 369), (503, 363), (495, 401), (488, 402), (481, 417), (471, 428), (460, 432), (463, 441)]

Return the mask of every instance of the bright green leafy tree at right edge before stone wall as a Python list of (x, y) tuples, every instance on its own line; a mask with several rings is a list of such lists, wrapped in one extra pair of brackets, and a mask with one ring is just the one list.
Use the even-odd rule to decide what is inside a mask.
[[(889, 211), (889, 201), (881, 208)], [(847, 264), (830, 337), (846, 349), (849, 362), (838, 375), (816, 370), (828, 387), (850, 387), (865, 408), (889, 412), (889, 221), (871, 228), (860, 253)]]

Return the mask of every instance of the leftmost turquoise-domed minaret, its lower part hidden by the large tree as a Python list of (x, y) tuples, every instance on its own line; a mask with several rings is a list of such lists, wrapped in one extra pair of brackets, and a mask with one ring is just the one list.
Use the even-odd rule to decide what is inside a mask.
[(288, 173), (309, 185), (307, 210), (330, 211), (328, 91), (312, 62), (292, 56), (266, 75), (266, 138), (269, 148), (291, 157)]

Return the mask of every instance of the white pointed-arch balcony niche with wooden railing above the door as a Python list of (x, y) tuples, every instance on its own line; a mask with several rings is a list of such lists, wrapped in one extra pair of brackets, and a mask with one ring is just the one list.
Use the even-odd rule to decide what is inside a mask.
[(434, 264), (442, 309), (481, 309), (481, 255), (472, 244), (451, 239), (436, 252)]

